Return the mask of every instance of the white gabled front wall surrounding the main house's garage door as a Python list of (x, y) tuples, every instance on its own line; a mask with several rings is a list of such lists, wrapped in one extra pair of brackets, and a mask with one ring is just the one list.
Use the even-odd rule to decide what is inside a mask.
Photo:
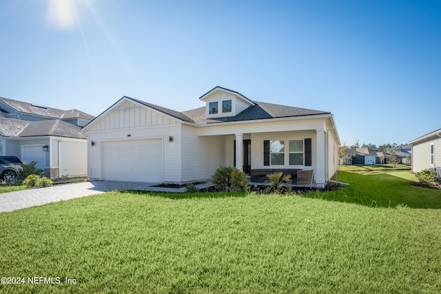
[[(170, 136), (173, 142), (169, 142)], [(178, 120), (130, 101), (114, 105), (88, 131), (88, 144), (95, 143), (94, 147), (89, 146), (89, 178), (101, 179), (103, 176), (101, 143), (157, 138), (163, 140), (163, 182), (181, 182), (181, 124)]]

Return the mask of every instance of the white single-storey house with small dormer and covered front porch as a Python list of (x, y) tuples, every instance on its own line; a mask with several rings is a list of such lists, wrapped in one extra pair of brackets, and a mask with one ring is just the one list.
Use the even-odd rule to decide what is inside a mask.
[(330, 112), (252, 101), (214, 87), (205, 106), (177, 112), (124, 96), (83, 128), (92, 180), (186, 183), (220, 166), (314, 169), (318, 187), (338, 167)]

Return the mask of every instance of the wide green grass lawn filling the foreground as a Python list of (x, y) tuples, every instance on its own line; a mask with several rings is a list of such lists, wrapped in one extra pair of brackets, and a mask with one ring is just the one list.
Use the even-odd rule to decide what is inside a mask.
[(439, 191), (390, 174), (340, 178), (353, 185), (329, 194), (362, 205), (110, 192), (0, 213), (0, 275), (26, 278), (0, 293), (440, 293)]

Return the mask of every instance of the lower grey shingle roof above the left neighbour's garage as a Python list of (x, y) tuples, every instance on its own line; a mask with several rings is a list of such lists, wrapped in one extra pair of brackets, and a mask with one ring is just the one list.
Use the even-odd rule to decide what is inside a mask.
[(86, 138), (81, 127), (63, 120), (25, 121), (0, 118), (0, 135), (4, 137), (59, 136), (65, 138)]

